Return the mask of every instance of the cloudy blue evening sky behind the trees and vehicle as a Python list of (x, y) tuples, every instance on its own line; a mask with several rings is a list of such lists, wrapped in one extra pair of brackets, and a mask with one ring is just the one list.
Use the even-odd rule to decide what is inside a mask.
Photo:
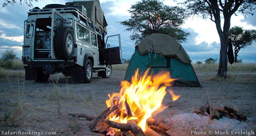
[[(138, 0), (100, 0), (101, 8), (107, 20), (107, 36), (121, 34), (121, 44), (124, 59), (130, 59), (135, 49), (134, 41), (129, 39), (131, 32), (125, 31), (125, 27), (119, 21), (130, 18), (132, 4)], [(179, 1), (179, 0), (177, 0)], [(46, 4), (65, 4), (67, 0), (42, 0), (33, 2), (34, 7), (43, 8)], [(2, 3), (0, 3), (2, 5)], [(169, 6), (177, 5), (176, 1), (164, 0), (164, 4)], [(0, 9), (0, 56), (6, 49), (14, 49), (17, 57), (22, 56), (23, 43), (23, 22), (27, 19), (27, 12), (33, 7), (27, 5), (14, 4)], [(256, 10), (253, 11), (256, 14)], [(245, 29), (256, 29), (256, 15), (242, 14), (231, 17), (231, 27), (241, 26)], [(200, 17), (190, 17), (181, 28), (190, 33), (187, 41), (180, 43), (188, 53), (192, 63), (204, 62), (209, 58), (220, 58), (220, 38), (214, 22), (203, 20)], [(238, 59), (243, 59), (244, 63), (256, 63), (256, 43), (243, 48), (238, 53)]]

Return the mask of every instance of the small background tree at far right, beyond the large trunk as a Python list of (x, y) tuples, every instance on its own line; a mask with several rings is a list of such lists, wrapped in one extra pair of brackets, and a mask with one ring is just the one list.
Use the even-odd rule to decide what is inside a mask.
[(237, 56), (240, 49), (252, 45), (252, 42), (256, 41), (256, 30), (235, 26), (229, 29), (229, 37), (235, 47), (235, 62), (238, 62)]

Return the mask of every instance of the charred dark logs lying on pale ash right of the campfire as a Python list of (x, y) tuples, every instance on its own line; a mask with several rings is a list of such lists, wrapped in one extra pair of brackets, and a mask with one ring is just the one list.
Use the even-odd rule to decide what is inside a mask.
[(246, 121), (247, 118), (243, 114), (239, 114), (235, 109), (224, 106), (224, 108), (210, 108), (210, 106), (204, 105), (200, 107), (200, 111), (193, 111), (192, 113), (201, 114), (202, 116), (212, 116), (212, 119), (220, 119), (222, 116), (226, 116), (231, 119), (237, 119), (239, 121)]

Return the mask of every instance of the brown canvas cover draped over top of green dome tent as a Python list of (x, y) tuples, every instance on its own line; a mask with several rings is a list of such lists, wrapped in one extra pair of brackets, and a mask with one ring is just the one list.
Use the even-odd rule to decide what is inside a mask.
[(174, 38), (165, 34), (151, 34), (138, 44), (140, 55), (148, 52), (176, 58), (186, 64), (191, 62), (187, 52)]

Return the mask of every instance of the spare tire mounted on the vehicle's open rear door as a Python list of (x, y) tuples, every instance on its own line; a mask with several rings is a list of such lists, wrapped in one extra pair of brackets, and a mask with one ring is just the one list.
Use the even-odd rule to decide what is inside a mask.
[(74, 52), (74, 35), (70, 27), (61, 27), (55, 35), (54, 52), (58, 59), (70, 60)]

